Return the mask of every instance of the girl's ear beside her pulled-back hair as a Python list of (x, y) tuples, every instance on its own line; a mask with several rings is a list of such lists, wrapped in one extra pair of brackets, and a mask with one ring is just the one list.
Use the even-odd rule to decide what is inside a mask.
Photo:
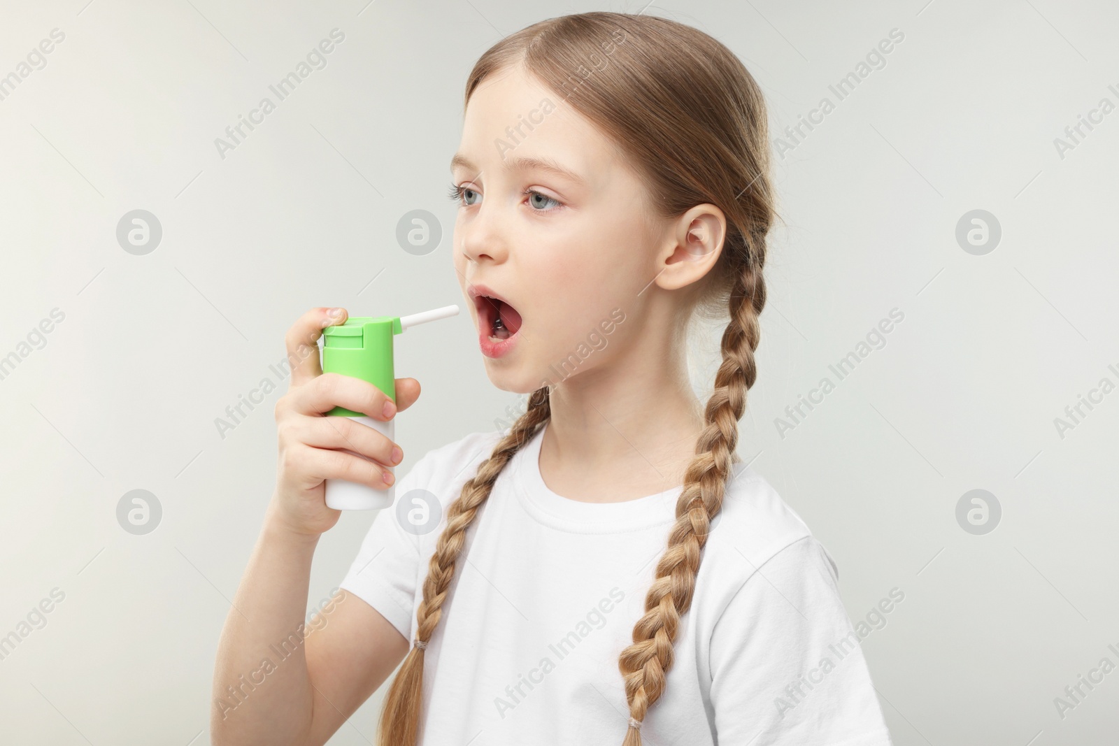
[(676, 290), (700, 280), (718, 261), (725, 236), (726, 216), (714, 205), (697, 205), (671, 221), (657, 254), (657, 285)]

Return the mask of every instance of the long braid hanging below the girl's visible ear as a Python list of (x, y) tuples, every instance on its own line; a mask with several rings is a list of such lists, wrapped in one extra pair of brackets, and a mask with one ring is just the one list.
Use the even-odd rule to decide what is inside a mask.
[(641, 721), (665, 691), (679, 620), (692, 606), (700, 553), (711, 521), (723, 506), (731, 465), (737, 461), (739, 419), (746, 408), (746, 390), (758, 378), (754, 350), (761, 333), (758, 317), (765, 305), (763, 262), (762, 242), (756, 261), (751, 261), (747, 253), (745, 266), (735, 277), (731, 321), (723, 332), (723, 362), (704, 410), (705, 426), (696, 442), (696, 456), (688, 464), (676, 502), (676, 523), (646, 594), (646, 613), (633, 627), (633, 644), (621, 652), (618, 661), (630, 707), (622, 746), (641, 746)]

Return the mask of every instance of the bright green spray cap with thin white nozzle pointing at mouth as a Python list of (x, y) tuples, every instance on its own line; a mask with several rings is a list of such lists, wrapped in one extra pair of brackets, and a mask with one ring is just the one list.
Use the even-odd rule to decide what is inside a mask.
[[(322, 330), (322, 372), (336, 372), (367, 380), (396, 402), (396, 374), (393, 366), (393, 336), (416, 324), (445, 319), (459, 313), (458, 305), (446, 305), (407, 317), (350, 317), (345, 323)], [(364, 412), (335, 407), (328, 415), (364, 417)]]

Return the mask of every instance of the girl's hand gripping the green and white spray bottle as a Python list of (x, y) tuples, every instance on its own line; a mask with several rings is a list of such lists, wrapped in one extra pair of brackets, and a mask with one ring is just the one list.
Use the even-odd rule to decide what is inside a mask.
[[(407, 409), (420, 396), (420, 381), (396, 379), (396, 405), (373, 384), (339, 374), (323, 374), (319, 363), (318, 340), (325, 327), (346, 321), (346, 310), (337, 317), (330, 309), (311, 309), (292, 324), (284, 338), (291, 362), (288, 393), (275, 406), (280, 441), (276, 490), (269, 506), (270, 520), (307, 537), (318, 537), (338, 522), (341, 511), (327, 507), (327, 479), (344, 479), (383, 490), (388, 483), (384, 466), (395, 466), (403, 451), (394, 456), (395, 443), (372, 427), (347, 417), (323, 413), (336, 406), (373, 417), (392, 419)], [(387, 405), (387, 409), (386, 409)], [(348, 448), (370, 461), (336, 448)], [(388, 474), (392, 479), (392, 474)]]

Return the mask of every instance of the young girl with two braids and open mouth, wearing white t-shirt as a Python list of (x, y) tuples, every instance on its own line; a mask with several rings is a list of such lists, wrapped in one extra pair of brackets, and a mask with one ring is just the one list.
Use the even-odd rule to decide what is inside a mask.
[[(402, 454), (321, 416), (394, 414), (305, 353), (345, 312), (292, 327), (278, 487), (222, 639), (215, 744), (322, 744), (402, 659), (380, 746), (890, 744), (835, 563), (735, 454), (769, 160), (756, 83), (690, 27), (566, 16), (482, 55), (452, 159), (454, 270), (490, 380), (526, 409), (399, 480), (300, 644), (314, 545), (339, 514), (323, 480), (383, 487)], [(689, 321), (727, 313), (700, 406)], [(397, 380), (396, 408), (417, 396)]]

